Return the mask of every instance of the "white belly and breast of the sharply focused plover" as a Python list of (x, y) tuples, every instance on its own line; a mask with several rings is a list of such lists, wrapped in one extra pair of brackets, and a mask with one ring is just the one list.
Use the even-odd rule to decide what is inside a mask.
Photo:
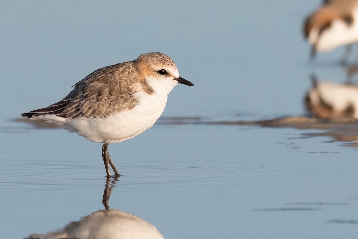
[(93, 142), (119, 143), (149, 129), (164, 111), (167, 94), (148, 95), (138, 93), (139, 104), (132, 110), (116, 113), (108, 118), (60, 118), (44, 115), (43, 118), (61, 124), (63, 128), (75, 132)]

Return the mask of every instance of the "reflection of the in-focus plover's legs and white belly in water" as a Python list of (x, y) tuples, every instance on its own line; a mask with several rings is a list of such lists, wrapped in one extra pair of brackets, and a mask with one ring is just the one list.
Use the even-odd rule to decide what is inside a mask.
[(92, 212), (79, 221), (70, 222), (63, 229), (32, 234), (27, 239), (164, 239), (152, 224), (128, 212), (110, 209), (108, 201), (118, 178), (107, 179), (103, 193), (105, 210)]

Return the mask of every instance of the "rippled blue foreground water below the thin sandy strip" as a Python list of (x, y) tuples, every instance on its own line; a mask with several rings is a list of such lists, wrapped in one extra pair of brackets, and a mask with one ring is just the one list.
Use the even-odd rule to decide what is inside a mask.
[[(312, 130), (157, 124), (111, 145), (123, 176), (109, 206), (149, 221), (165, 238), (354, 238), (356, 149), (305, 132)], [(43, 137), (25, 139), (34, 134)], [(0, 167), (4, 238), (46, 233), (104, 209), (100, 144), (75, 136), (18, 135), (25, 148), (9, 149)]]

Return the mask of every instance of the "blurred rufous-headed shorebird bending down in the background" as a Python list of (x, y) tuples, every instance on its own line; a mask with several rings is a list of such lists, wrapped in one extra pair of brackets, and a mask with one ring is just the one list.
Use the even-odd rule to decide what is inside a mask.
[(316, 52), (328, 52), (346, 45), (341, 59), (345, 63), (358, 42), (358, 0), (325, 0), (305, 21), (304, 35), (312, 45), (311, 58)]

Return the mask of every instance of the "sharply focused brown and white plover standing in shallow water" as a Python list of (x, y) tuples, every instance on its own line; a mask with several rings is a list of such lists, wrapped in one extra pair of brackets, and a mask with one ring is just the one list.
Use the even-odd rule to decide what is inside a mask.
[(174, 61), (160, 52), (100, 68), (77, 82), (62, 100), (21, 116), (57, 123), (93, 142), (103, 143), (102, 158), (116, 169), (108, 144), (131, 139), (149, 129), (163, 113), (174, 86), (192, 82), (179, 76)]

